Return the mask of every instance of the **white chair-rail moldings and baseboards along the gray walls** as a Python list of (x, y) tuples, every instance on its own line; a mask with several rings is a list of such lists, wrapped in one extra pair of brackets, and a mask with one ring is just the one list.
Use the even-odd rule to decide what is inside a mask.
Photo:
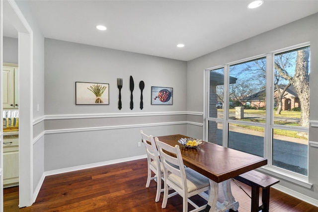
[[(112, 113), (112, 114), (66, 114), (66, 115), (46, 115), (43, 117), (38, 117), (33, 120), (33, 125), (36, 125), (40, 122), (43, 122), (45, 120), (61, 120), (61, 119), (90, 119), (90, 118), (113, 118), (113, 117), (138, 117), (138, 116), (166, 116), (166, 115), (194, 115), (194, 116), (203, 116), (202, 112), (155, 112), (155, 113)], [(318, 121), (311, 121), (311, 126), (312, 127), (318, 127)], [(202, 127), (202, 123), (197, 123), (197, 122), (189, 122), (189, 121), (180, 121), (180, 122), (165, 122), (165, 123), (153, 123), (153, 124), (136, 124), (136, 125), (119, 125), (119, 126), (107, 126), (107, 127), (92, 127), (92, 128), (77, 128), (77, 129), (60, 129), (60, 130), (44, 130), (41, 132), (39, 135), (33, 138), (33, 144), (39, 141), (45, 134), (56, 134), (56, 133), (71, 133), (71, 132), (79, 132), (79, 131), (96, 131), (96, 130), (111, 130), (111, 129), (125, 129), (125, 128), (140, 128), (140, 127), (151, 127), (151, 126), (163, 126), (163, 125), (183, 125), (183, 124), (189, 124), (189, 125), (195, 125), (195, 126), (200, 126)], [(310, 146), (313, 147), (318, 147), (318, 142), (316, 141), (309, 141)], [(82, 166), (75, 166), (75, 167), (69, 167), (69, 168), (64, 168), (64, 169), (58, 169), (58, 170), (53, 170), (53, 171), (47, 171), (43, 173), (43, 176), (41, 180), (39, 181), (34, 194), (34, 202), (36, 200), (36, 197), (41, 189), (41, 186), (44, 182), (44, 179), (46, 176), (49, 175), (55, 175), (55, 174), (61, 174), (61, 173), (66, 173), (66, 172), (71, 172), (71, 171), (76, 171), (76, 170), (82, 170), (82, 169), (87, 169), (87, 168), (93, 168), (93, 167), (98, 167), (98, 166), (104, 166), (104, 165), (109, 165), (109, 164), (114, 164), (114, 163), (120, 163), (120, 162), (125, 162), (125, 161), (130, 161), (130, 160), (136, 160), (136, 159), (142, 159), (146, 158), (147, 155), (140, 155), (140, 156), (135, 156), (135, 157), (129, 157), (129, 158), (122, 158), (122, 159), (116, 159), (116, 160), (110, 160), (110, 161), (104, 161), (104, 162), (98, 162), (98, 163), (93, 163), (93, 164), (86, 164)], [(1, 171), (1, 170), (0, 170)], [(0, 172), (1, 174), (1, 172)], [(305, 186), (306, 187), (306, 186)], [(318, 207), (318, 200), (315, 200), (311, 197), (305, 196), (299, 192), (295, 192), (291, 189), (288, 189), (286, 187), (283, 187), (281, 185), (274, 185), (273, 188), (284, 192), (288, 195), (291, 195), (297, 199), (300, 199), (304, 202), (307, 202), (309, 204), (312, 204), (316, 207)]]

